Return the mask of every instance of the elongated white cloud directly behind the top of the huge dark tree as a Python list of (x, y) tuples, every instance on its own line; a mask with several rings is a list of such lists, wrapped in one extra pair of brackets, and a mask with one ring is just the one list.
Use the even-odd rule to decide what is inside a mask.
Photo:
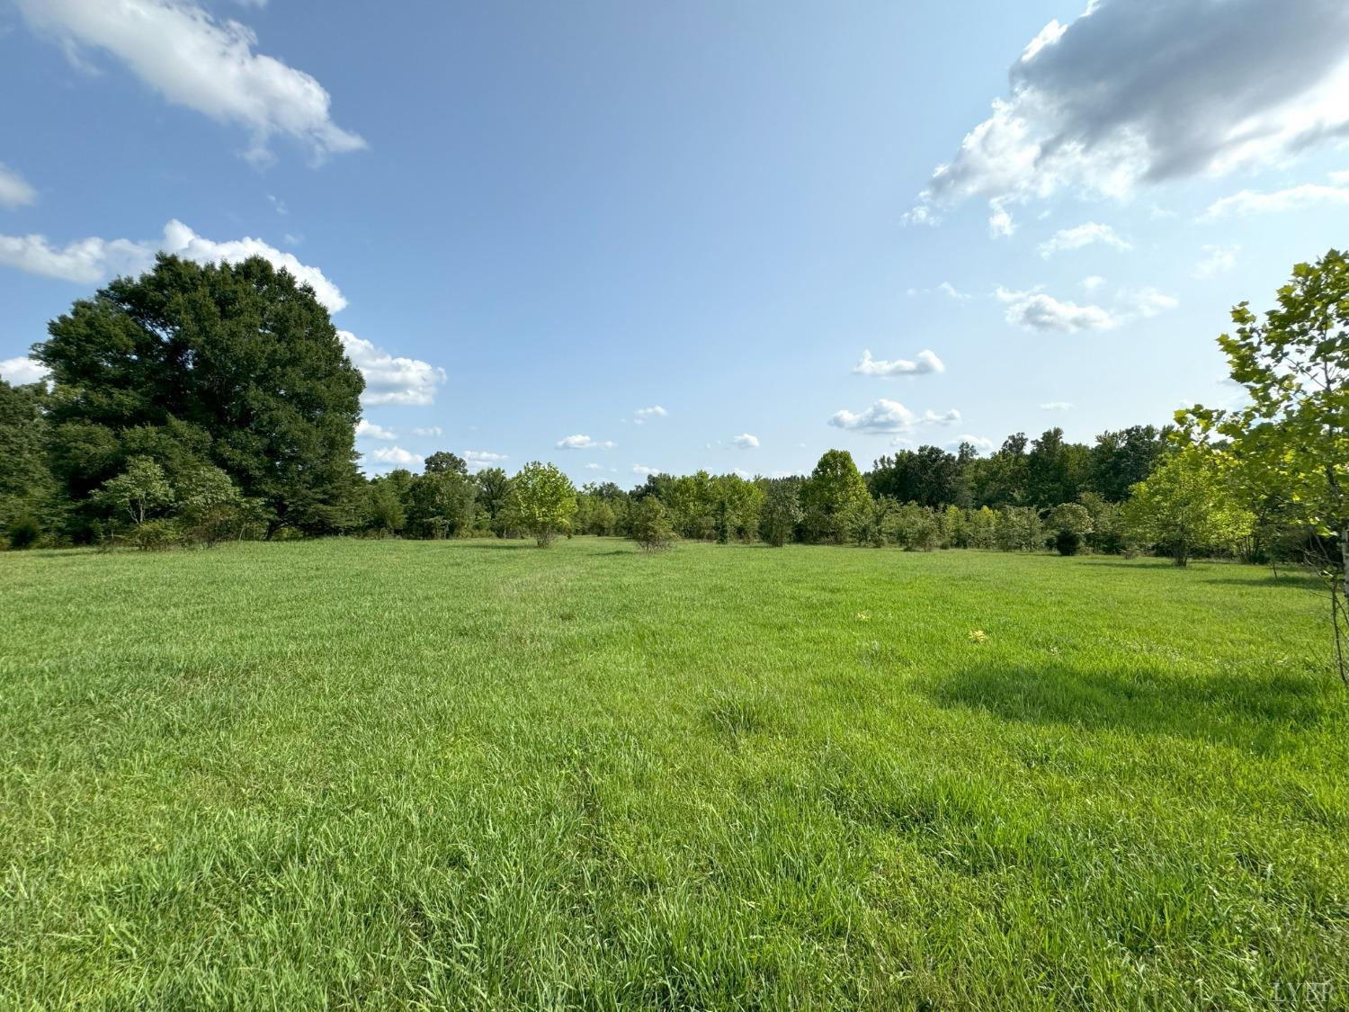
[(197, 263), (239, 263), (250, 256), (262, 256), (272, 267), (283, 267), (297, 281), (309, 285), (314, 297), (329, 312), (336, 313), (347, 305), (339, 287), (321, 270), (301, 263), (294, 254), (248, 236), (217, 243), (197, 235), (177, 219), (165, 225), (159, 240), (147, 242), (90, 236), (54, 247), (42, 235), (0, 235), (0, 266), (78, 285), (96, 285), (117, 274), (138, 274), (152, 264), (158, 251), (177, 254)]

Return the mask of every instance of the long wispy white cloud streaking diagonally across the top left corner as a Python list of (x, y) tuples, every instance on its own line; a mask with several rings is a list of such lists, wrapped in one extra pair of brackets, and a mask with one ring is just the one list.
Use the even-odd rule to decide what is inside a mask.
[(256, 35), (217, 20), (193, 0), (18, 0), (34, 31), (82, 59), (98, 49), (121, 61), (165, 100), (250, 132), (247, 158), (266, 162), (268, 143), (289, 136), (316, 161), (366, 142), (332, 121), (331, 99), (313, 77), (254, 53)]

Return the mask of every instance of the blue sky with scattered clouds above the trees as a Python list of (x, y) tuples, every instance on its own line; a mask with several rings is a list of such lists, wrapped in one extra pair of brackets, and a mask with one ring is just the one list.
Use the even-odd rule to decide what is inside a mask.
[(1342, 0), (0, 0), (0, 93), (5, 378), (156, 248), (262, 252), (371, 471), (1160, 424), (1349, 225)]

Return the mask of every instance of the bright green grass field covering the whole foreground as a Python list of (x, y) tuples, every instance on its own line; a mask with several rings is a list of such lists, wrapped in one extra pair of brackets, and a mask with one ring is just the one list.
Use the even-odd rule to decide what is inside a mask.
[(1306, 582), (579, 538), (0, 592), (4, 1008), (1349, 1005)]

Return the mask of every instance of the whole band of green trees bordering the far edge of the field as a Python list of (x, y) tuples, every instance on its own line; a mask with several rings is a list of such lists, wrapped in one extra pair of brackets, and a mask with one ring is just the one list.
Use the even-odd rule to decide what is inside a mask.
[[(1331, 251), (1295, 269), (1265, 322), (1234, 310), (1238, 336), (1221, 341), (1257, 406), (1240, 413), (1197, 406), (1176, 425), (1093, 444), (1059, 428), (1014, 433), (987, 456), (925, 445), (865, 474), (831, 449), (809, 475), (699, 471), (577, 490), (550, 464), (469, 472), (444, 451), (422, 474), (367, 480), (355, 451), (364, 381), (312, 289), (260, 258), (162, 255), (51, 321), (34, 347), (46, 383), (0, 382), (0, 537), (13, 548), (321, 534), (546, 545), (581, 533), (653, 549), (688, 538), (1296, 557), (1337, 534), (1349, 544), (1337, 470), (1346, 293)], [(1314, 389), (1294, 389), (1296, 376)], [(1298, 414), (1309, 403), (1311, 420)]]

